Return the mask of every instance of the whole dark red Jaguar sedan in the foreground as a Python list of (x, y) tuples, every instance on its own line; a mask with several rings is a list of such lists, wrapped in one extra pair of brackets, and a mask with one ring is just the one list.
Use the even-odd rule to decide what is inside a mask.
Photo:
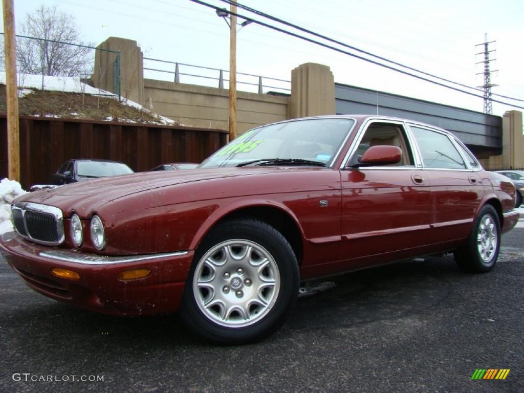
[(206, 339), (245, 343), (278, 329), (301, 281), (443, 252), (487, 272), (515, 208), (514, 185), (443, 129), (323, 116), (250, 130), (198, 171), (20, 196), (0, 247), (50, 298), (179, 310)]

